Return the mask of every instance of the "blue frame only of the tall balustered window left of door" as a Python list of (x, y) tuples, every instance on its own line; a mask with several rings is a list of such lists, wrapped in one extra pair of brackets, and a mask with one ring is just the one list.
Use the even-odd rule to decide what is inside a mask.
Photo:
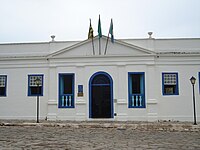
[[(72, 76), (72, 94), (62, 94), (61, 93), (61, 80), (62, 76), (71, 75)], [(58, 74), (58, 108), (75, 108), (74, 105), (74, 83), (75, 83), (75, 74), (74, 73), (59, 73)], [(61, 96), (72, 96), (72, 104), (71, 106), (62, 106), (62, 97)]]

